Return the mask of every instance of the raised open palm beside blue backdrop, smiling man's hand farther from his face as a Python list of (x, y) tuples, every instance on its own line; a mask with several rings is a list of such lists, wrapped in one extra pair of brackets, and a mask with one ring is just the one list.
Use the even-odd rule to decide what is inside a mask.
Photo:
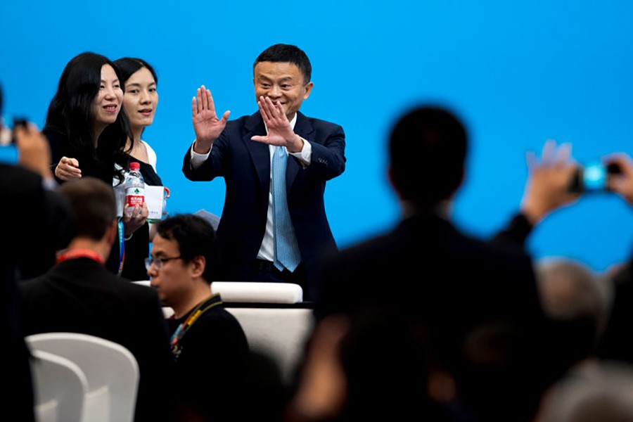
[(211, 91), (202, 85), (196, 91), (196, 96), (191, 99), (191, 120), (193, 121), (193, 132), (196, 132), (196, 144), (193, 149), (199, 153), (207, 153), (229, 121), (229, 114), (226, 110), (222, 118), (218, 118), (215, 112), (215, 105)]

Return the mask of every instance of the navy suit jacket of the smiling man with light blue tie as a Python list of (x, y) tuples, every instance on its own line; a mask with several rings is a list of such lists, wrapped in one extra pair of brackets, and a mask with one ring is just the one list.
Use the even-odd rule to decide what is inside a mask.
[[(312, 119), (298, 113), (295, 133), (312, 145), (312, 161), (302, 168), (296, 159), (288, 160), (286, 186), (288, 209), (293, 221), (302, 261), (308, 274), (314, 272), (312, 260), (336, 244), (328, 224), (324, 205), (326, 181), (345, 170), (345, 134), (337, 124)], [(213, 143), (209, 158), (193, 170), (190, 150), (182, 171), (191, 180), (224, 177), (226, 197), (217, 229), (222, 253), (221, 278), (246, 281), (250, 263), (257, 257), (266, 228), (270, 187), (270, 153), (265, 143), (251, 141), (265, 135), (260, 113), (244, 116), (226, 124)]]

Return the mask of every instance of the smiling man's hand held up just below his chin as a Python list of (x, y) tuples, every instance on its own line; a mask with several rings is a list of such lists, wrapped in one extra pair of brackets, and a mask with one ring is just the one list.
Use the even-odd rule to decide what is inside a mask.
[(303, 148), (303, 140), (293, 132), (286, 113), (280, 103), (273, 103), (269, 97), (260, 96), (257, 100), (260, 114), (268, 134), (266, 136), (252, 136), (252, 141), (268, 143), (269, 145), (285, 146), (290, 153), (298, 153)]

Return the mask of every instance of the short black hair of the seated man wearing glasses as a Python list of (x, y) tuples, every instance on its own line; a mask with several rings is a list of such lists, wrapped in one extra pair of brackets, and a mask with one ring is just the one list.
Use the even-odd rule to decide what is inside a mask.
[(162, 238), (176, 241), (184, 261), (205, 257), (203, 279), (207, 283), (214, 281), (217, 274), (217, 242), (210, 222), (193, 214), (174, 215), (160, 220), (156, 224), (156, 233)]

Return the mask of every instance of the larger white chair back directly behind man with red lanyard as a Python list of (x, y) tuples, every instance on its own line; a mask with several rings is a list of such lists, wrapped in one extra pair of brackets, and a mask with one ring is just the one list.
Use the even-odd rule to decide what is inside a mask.
[(125, 347), (110, 340), (80, 333), (28, 335), (34, 350), (70, 359), (88, 382), (84, 420), (132, 422), (139, 388), (139, 365)]

